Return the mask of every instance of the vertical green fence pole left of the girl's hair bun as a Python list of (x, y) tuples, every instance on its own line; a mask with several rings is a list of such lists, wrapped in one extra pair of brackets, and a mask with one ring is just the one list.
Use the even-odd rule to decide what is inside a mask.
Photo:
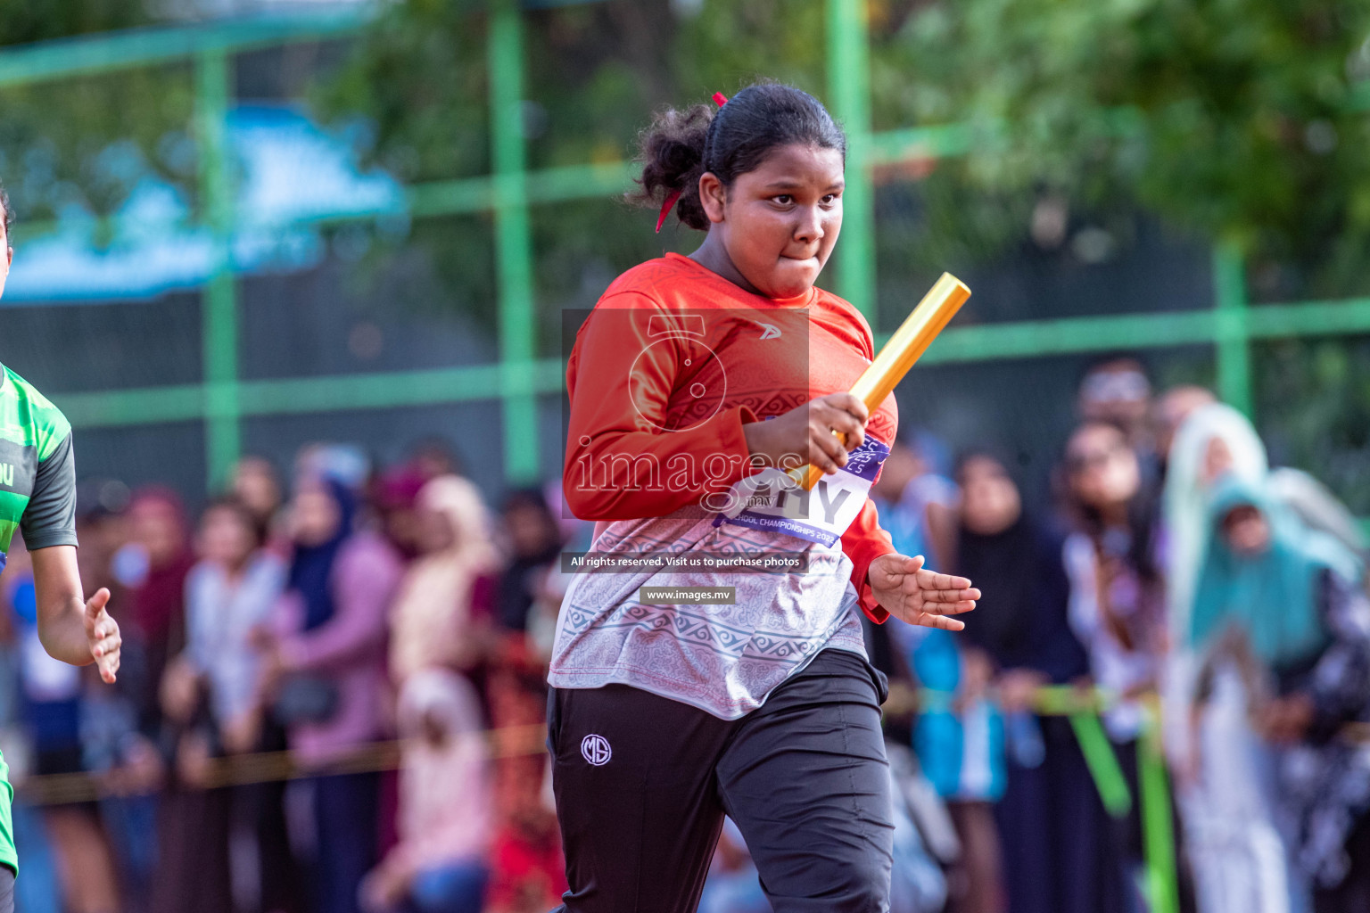
[(538, 476), (537, 398), (514, 379), (534, 355), (533, 241), (523, 149), (523, 36), (514, 0), (490, 12), (490, 157), (495, 164), (495, 250), (500, 293), (500, 364), (506, 383), (504, 472), (514, 483)]

